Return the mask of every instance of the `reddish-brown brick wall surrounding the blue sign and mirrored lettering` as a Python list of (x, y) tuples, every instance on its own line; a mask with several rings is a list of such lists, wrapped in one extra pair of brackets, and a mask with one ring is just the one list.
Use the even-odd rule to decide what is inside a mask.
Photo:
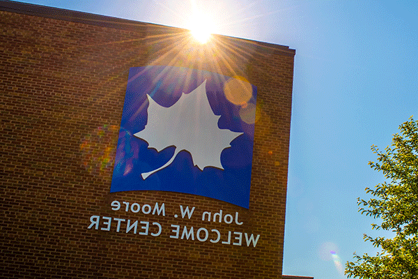
[[(199, 47), (182, 29), (1, 4), (2, 274), (8, 278), (280, 278), (293, 50), (224, 36)], [(146, 65), (240, 75), (257, 86), (259, 119), (249, 209), (181, 193), (109, 193), (127, 73), (130, 67)], [(166, 216), (114, 211), (114, 200), (164, 203)], [(173, 216), (180, 205), (195, 206), (190, 220)], [(213, 214), (220, 209), (233, 216), (238, 212), (243, 225), (201, 220), (204, 211)], [(103, 220), (99, 229), (88, 229), (91, 216), (149, 222), (149, 233), (157, 232), (152, 225), (157, 222), (162, 232), (160, 236), (125, 233), (124, 225), (116, 232), (115, 221), (107, 231), (101, 229), (106, 228)], [(173, 239), (171, 225), (218, 229), (222, 241), (229, 231), (232, 237), (237, 235), (233, 232), (260, 237), (255, 248)]]

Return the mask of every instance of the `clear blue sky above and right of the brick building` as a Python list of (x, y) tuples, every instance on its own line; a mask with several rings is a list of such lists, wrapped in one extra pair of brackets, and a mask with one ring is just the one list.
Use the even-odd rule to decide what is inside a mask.
[[(187, 27), (189, 1), (25, 1)], [(284, 274), (346, 278), (371, 218), (357, 213), (364, 188), (383, 181), (370, 146), (391, 144), (418, 119), (418, 1), (196, 1), (214, 33), (296, 50)], [(336, 254), (332, 256), (330, 250)], [(339, 268), (341, 263), (341, 268)]]

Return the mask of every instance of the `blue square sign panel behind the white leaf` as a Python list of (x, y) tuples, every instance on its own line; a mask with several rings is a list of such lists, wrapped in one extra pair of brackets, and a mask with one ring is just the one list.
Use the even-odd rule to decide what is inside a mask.
[(110, 192), (162, 190), (249, 207), (256, 87), (171, 66), (130, 68)]

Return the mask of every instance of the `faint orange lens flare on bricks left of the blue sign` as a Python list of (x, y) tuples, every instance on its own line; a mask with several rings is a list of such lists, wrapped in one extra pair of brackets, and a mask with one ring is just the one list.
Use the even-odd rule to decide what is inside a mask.
[(93, 174), (110, 170), (114, 162), (118, 127), (104, 125), (86, 135), (80, 144), (82, 165)]

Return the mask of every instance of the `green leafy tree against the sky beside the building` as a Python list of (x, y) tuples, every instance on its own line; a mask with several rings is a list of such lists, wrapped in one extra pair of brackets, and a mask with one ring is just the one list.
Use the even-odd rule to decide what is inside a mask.
[(382, 251), (375, 257), (355, 253), (355, 262), (346, 263), (348, 278), (418, 279), (418, 121), (411, 117), (399, 130), (384, 152), (371, 146), (378, 162), (369, 165), (382, 171), (387, 182), (366, 188), (373, 196), (368, 201), (357, 199), (359, 212), (382, 220), (381, 225), (371, 224), (372, 228), (394, 232), (394, 237), (364, 234), (364, 241)]

